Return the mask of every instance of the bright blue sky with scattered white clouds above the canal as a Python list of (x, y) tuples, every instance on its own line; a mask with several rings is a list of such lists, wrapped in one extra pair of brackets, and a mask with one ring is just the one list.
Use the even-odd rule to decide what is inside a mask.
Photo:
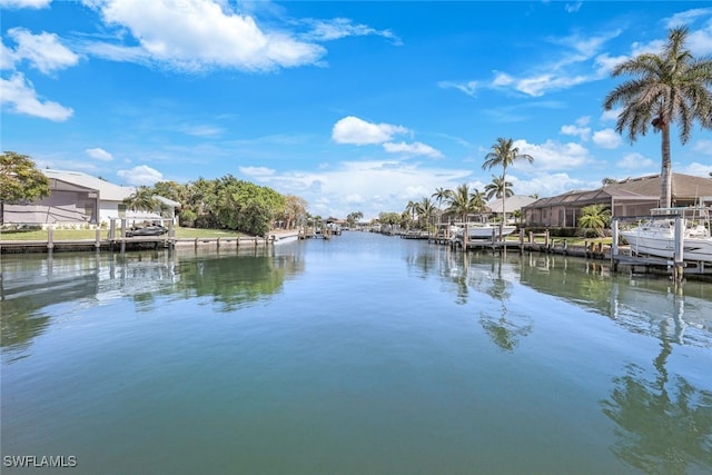
[[(366, 218), (467, 182), (498, 137), (534, 162), (518, 195), (660, 172), (603, 98), (617, 61), (686, 24), (712, 53), (706, 1), (343, 2), (0, 0), (2, 150), (119, 185), (237, 178)], [(708, 176), (712, 133), (672, 142)]]

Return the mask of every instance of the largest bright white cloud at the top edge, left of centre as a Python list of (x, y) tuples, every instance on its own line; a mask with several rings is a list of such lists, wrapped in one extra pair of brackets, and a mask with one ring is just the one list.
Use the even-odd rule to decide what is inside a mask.
[(264, 71), (319, 61), (326, 50), (281, 31), (261, 29), (227, 2), (202, 0), (105, 0), (98, 7), (109, 26), (126, 28), (140, 49), (90, 46), (119, 60), (156, 61), (176, 69), (236, 68)]

